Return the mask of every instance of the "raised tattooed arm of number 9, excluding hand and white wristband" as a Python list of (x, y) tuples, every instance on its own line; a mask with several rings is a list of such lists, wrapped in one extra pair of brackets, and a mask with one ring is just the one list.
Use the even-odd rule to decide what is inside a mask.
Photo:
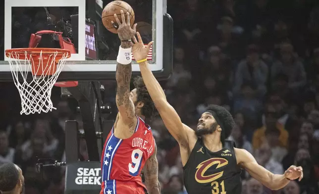
[[(129, 48), (129, 44), (122, 42), (122, 48)], [(134, 103), (130, 99), (130, 81), (132, 75), (132, 64), (116, 65), (116, 106), (121, 118), (126, 123), (131, 123), (135, 117)]]

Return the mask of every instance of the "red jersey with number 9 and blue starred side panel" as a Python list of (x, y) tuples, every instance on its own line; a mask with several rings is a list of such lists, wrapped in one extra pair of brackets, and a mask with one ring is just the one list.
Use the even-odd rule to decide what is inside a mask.
[(155, 140), (151, 127), (137, 116), (135, 133), (122, 140), (108, 134), (101, 157), (101, 194), (120, 194), (116, 184), (131, 184), (145, 188), (140, 177), (145, 162), (154, 153)]

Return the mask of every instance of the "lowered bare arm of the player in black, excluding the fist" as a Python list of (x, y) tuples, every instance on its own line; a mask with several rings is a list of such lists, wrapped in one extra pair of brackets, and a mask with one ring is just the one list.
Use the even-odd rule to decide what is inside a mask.
[(244, 168), (253, 178), (271, 190), (284, 188), (289, 180), (284, 175), (273, 174), (259, 165), (254, 156), (245, 149), (235, 149), (237, 164)]

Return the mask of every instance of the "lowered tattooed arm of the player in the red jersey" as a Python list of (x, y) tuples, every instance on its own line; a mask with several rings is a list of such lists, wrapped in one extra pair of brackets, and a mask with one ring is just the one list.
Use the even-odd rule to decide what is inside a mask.
[(145, 185), (149, 194), (160, 194), (159, 182), (159, 163), (156, 158), (157, 146), (155, 144), (155, 151), (153, 155), (146, 161), (144, 167)]

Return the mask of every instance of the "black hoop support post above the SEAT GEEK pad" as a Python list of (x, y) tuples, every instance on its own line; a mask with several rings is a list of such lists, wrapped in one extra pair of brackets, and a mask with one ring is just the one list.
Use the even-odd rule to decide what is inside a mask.
[(88, 156), (90, 161), (100, 161), (98, 149), (98, 138), (96, 132), (101, 129), (101, 84), (99, 82), (79, 82), (77, 87), (69, 87), (67, 90), (72, 94), (79, 104), (84, 137), (86, 140)]

